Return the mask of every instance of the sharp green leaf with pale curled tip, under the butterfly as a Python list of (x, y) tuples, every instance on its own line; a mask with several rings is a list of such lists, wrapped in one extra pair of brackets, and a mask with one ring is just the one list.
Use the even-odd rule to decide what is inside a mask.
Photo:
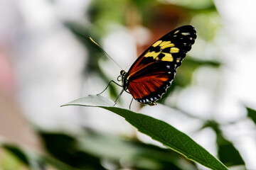
[(87, 96), (71, 101), (63, 106), (92, 106), (105, 108), (117, 115), (122, 116), (135, 128), (152, 139), (161, 142), (169, 149), (183, 154), (187, 159), (191, 159), (210, 169), (228, 169), (218, 159), (213, 157), (206, 149), (194, 142), (188, 135), (176, 130), (168, 123), (162, 120), (151, 118), (148, 115), (134, 113), (124, 108), (113, 107), (114, 102), (102, 96)]

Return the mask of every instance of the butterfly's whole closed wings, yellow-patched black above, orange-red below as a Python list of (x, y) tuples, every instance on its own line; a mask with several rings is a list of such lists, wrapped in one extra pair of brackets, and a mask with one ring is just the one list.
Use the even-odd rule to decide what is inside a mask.
[(176, 69), (195, 42), (193, 26), (182, 26), (154, 42), (127, 72), (128, 90), (140, 103), (155, 105), (174, 80)]

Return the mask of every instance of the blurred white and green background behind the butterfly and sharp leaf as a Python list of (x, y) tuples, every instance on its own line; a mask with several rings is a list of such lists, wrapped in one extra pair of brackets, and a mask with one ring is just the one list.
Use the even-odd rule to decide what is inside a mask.
[[(188, 134), (230, 169), (256, 169), (253, 0), (0, 0), (0, 169), (206, 169), (100, 108), (98, 94), (162, 35), (198, 38), (157, 106), (132, 111)], [(103, 96), (114, 100), (114, 84)], [(129, 108), (123, 94), (118, 106)]]

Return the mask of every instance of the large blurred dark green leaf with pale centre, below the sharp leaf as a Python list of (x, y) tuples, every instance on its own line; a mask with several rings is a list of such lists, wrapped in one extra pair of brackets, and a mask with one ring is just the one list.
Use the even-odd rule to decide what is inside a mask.
[[(61, 160), (66, 157), (68, 159), (63, 161), (70, 165), (76, 163), (75, 165), (79, 169), (87, 169), (87, 166), (91, 166), (91, 169), (105, 169), (100, 166), (99, 161), (101, 160), (102, 162), (102, 159), (105, 160), (106, 164), (112, 165), (112, 169), (120, 169), (125, 166), (132, 169), (164, 169), (164, 167), (182, 169), (186, 166), (195, 167), (192, 163), (187, 162), (180, 156), (177, 157), (176, 153), (169, 152), (167, 149), (146, 145), (136, 140), (101, 135), (96, 132), (87, 131), (85, 134), (73, 137), (64, 134), (41, 133), (43, 141), (54, 157), (58, 157)], [(55, 139), (64, 139), (62, 140), (63, 145), (65, 145), (64, 148), (70, 148), (70, 150), (63, 152), (63, 147), (49, 148), (48, 146), (59, 145), (59, 142)], [(70, 143), (70, 139), (73, 140), (72, 143)], [(184, 164), (179, 164), (176, 162), (177, 160)], [(144, 164), (143, 162), (147, 163)]]

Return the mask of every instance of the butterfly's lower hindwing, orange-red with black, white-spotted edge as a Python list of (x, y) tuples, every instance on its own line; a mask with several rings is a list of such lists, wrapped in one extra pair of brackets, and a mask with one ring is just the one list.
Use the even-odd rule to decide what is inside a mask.
[(141, 103), (151, 103), (161, 98), (174, 79), (175, 68), (168, 62), (156, 62), (129, 77), (129, 92)]

